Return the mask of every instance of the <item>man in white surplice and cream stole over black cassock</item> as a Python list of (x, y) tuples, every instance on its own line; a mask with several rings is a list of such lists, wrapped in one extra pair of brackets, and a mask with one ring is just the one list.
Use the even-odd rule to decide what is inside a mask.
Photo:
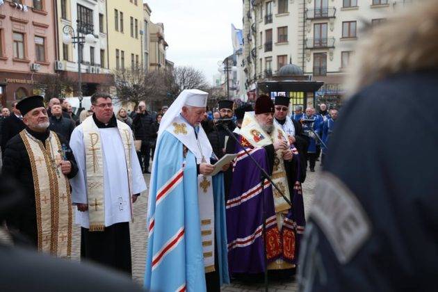
[(133, 202), (146, 190), (132, 131), (113, 113), (110, 95), (91, 97), (94, 112), (72, 133), (70, 147), (79, 172), (72, 184), (76, 224), (81, 225), (81, 259), (131, 275), (129, 221)]

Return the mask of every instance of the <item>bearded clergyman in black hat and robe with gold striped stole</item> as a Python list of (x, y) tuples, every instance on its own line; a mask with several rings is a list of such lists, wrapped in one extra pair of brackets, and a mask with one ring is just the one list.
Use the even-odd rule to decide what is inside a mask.
[(38, 251), (70, 257), (72, 202), (68, 179), (78, 172), (63, 136), (49, 131), (43, 97), (27, 97), (17, 104), (26, 128), (9, 140), (2, 174), (20, 182), (25, 198), (7, 219)]

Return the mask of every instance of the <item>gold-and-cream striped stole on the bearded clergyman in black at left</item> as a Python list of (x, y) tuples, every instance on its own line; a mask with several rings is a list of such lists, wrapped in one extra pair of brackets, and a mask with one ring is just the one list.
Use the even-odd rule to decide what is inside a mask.
[(70, 257), (72, 252), (72, 200), (70, 184), (60, 170), (63, 151), (53, 131), (42, 142), (28, 131), (19, 133), (31, 161), (35, 211), (38, 229), (38, 251), (56, 257)]

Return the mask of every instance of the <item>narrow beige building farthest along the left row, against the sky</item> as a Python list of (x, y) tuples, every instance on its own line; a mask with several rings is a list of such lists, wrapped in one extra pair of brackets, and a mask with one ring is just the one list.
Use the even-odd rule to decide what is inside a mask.
[(164, 24), (149, 22), (149, 69), (165, 70), (165, 50), (168, 43), (164, 39)]

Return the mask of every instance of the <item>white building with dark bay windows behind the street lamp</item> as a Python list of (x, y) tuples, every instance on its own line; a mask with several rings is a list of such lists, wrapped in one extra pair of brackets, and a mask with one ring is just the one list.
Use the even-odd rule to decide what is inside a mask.
[[(108, 26), (106, 0), (56, 0), (57, 58), (55, 69), (72, 81), (79, 80), (79, 58), (83, 96), (108, 92), (113, 76), (108, 69)], [(67, 31), (71, 26), (74, 34)], [(74, 36), (93, 35), (74, 44)], [(67, 37), (68, 36), (68, 37)], [(66, 41), (67, 37), (67, 41)], [(73, 92), (77, 95), (77, 92)]]

